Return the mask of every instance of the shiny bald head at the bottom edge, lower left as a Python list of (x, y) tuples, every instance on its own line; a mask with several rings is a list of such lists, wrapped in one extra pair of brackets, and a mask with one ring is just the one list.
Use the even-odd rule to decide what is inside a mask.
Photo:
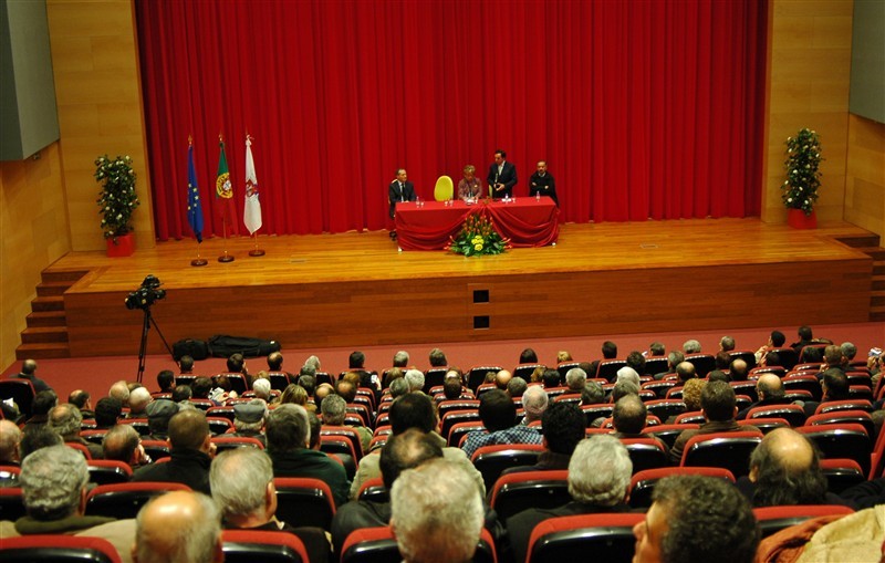
[(221, 518), (206, 494), (167, 492), (150, 499), (135, 519), (132, 559), (136, 563), (218, 563)]

